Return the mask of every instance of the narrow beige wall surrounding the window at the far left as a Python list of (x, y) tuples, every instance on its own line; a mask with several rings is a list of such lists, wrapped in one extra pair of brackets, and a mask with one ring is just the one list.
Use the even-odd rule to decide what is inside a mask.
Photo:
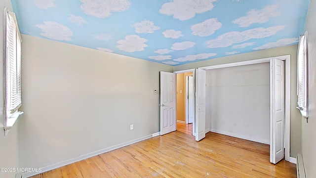
[[(3, 79), (3, 8), (12, 10), (10, 0), (0, 0), (0, 79)], [(0, 108), (3, 108), (3, 82), (0, 82)], [(19, 144), (18, 121), (7, 136), (3, 131), (4, 117), (0, 109), (0, 168), (18, 168)], [(14, 178), (15, 173), (2, 173), (0, 178)]]

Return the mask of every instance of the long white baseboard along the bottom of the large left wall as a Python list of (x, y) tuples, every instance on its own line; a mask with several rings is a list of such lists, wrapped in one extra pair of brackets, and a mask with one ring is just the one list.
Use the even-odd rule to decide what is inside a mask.
[[(110, 146), (108, 148), (104, 148), (104, 149), (101, 149), (101, 150), (98, 150), (98, 151), (94, 151), (94, 152), (91, 152), (91, 153), (80, 155), (78, 157), (75, 157), (75, 158), (72, 158), (72, 159), (69, 159), (69, 160), (65, 160), (65, 161), (62, 161), (62, 162), (59, 162), (59, 163), (55, 163), (55, 164), (51, 164), (51, 165), (48, 165), (48, 166), (44, 166), (44, 167), (41, 167), (41, 173), (44, 173), (44, 172), (47, 172), (47, 171), (51, 171), (51, 170), (54, 170), (54, 169), (57, 169), (57, 168), (60, 168), (60, 167), (63, 167), (63, 166), (66, 166), (66, 165), (69, 165), (69, 164), (72, 164), (72, 163), (76, 163), (78, 161), (81, 161), (81, 160), (84, 160), (84, 159), (87, 159), (87, 158), (91, 158), (93, 156), (97, 156), (99, 154), (106, 153), (106, 152), (109, 152), (109, 151), (112, 151), (112, 150), (115, 150), (115, 149), (118, 149), (118, 148), (130, 145), (130, 144), (133, 144), (133, 143), (136, 143), (136, 142), (139, 142), (139, 141), (143, 141), (143, 140), (146, 140), (148, 138), (152, 138), (152, 137), (158, 136), (158, 135), (160, 135), (160, 132), (154, 133), (154, 134), (150, 134), (150, 135), (146, 135), (146, 136), (143, 136), (143, 137), (140, 137), (140, 138), (137, 138), (137, 139), (133, 139), (133, 140), (130, 140), (130, 141), (126, 141), (124, 143), (120, 143), (120, 144), (117, 144), (117, 145), (114, 145), (114, 146)], [(35, 175), (38, 175), (38, 174), (40, 174), (40, 173), (31, 173), (31, 172), (23, 173), (23, 178), (29, 178), (29, 177), (32, 177), (32, 176), (35, 176)]]

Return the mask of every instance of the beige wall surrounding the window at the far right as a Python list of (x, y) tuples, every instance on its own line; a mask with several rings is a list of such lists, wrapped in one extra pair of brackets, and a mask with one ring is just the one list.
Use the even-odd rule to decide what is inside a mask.
[(316, 1), (311, 0), (306, 30), (308, 31), (309, 119), (302, 121), (302, 154), (307, 178), (316, 177)]

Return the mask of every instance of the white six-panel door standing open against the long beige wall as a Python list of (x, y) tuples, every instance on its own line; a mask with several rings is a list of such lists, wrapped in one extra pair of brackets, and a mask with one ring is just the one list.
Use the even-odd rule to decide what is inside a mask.
[(160, 135), (176, 131), (176, 74), (160, 71)]

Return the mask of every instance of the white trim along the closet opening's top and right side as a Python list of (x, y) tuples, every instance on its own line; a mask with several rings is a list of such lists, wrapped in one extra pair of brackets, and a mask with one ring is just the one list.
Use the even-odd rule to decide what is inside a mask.
[[(220, 65), (212, 65), (206, 67), (199, 67), (199, 69), (209, 70), (209, 69), (219, 69), (225, 67), (234, 67), (234, 66), (242, 66), (242, 65), (249, 65), (249, 64), (259, 64), (264, 62), (269, 62), (270, 59), (279, 59), (285, 61), (285, 131), (284, 131), (284, 148), (285, 148), (285, 160), (292, 161), (293, 159), (290, 158), (290, 103), (291, 103), (291, 57), (290, 55), (282, 55), (276, 57), (268, 57), (262, 59), (254, 59), (254, 60), (247, 60), (241, 62), (234, 62), (234, 63), (227, 63), (227, 64), (220, 64)], [(271, 70), (271, 69), (270, 69)], [(293, 161), (292, 161), (293, 162)], [(296, 162), (295, 162), (296, 163)]]

